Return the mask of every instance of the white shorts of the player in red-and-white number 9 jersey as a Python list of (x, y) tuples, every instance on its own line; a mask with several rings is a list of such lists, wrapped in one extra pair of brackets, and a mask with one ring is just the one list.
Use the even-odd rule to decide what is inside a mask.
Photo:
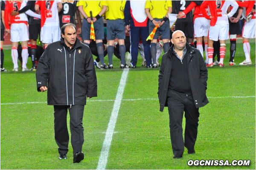
[(213, 41), (229, 39), (229, 25), (215, 25), (209, 28), (209, 39)]

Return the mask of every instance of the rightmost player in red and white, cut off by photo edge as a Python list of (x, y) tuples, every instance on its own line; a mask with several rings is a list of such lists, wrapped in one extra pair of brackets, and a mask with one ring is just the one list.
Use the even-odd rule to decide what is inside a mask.
[[(253, 6), (255, 6), (254, 0), (247, 0), (244, 2), (237, 1), (239, 6), (246, 8), (246, 16), (252, 15), (250, 20), (244, 21), (244, 27), (242, 31), (242, 37), (243, 37), (243, 46), (244, 46), (244, 54), (245, 54), (245, 60), (239, 65), (251, 65), (252, 61), (250, 59), (250, 43), (249, 38), (255, 38), (255, 10), (253, 10)], [(252, 12), (252, 10), (254, 12)]]

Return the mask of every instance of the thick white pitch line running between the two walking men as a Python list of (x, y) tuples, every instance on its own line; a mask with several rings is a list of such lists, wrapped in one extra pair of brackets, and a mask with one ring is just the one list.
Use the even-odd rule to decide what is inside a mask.
[(118, 116), (120, 104), (122, 102), (122, 95), (123, 95), (123, 92), (125, 89), (128, 72), (129, 72), (129, 68), (125, 68), (124, 71), (122, 72), (122, 76), (121, 76), (119, 87), (117, 90), (113, 110), (112, 110), (111, 117), (110, 117), (110, 120), (108, 123), (108, 129), (106, 131), (105, 139), (104, 139), (104, 142), (102, 145), (102, 150), (101, 150), (101, 153), (99, 156), (99, 162), (98, 162), (98, 166), (96, 168), (97, 170), (105, 170), (107, 162), (108, 162), (108, 153), (109, 153), (114, 129), (116, 126), (116, 119)]

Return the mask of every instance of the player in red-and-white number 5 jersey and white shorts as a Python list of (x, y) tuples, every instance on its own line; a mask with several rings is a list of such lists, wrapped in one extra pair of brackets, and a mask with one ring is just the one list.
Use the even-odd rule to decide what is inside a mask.
[[(26, 63), (28, 60), (28, 18), (26, 14), (18, 14), (15, 16), (11, 16), (11, 11), (19, 11), (21, 8), (26, 6), (26, 2), (22, 0), (7, 0), (6, 8), (5, 8), (5, 23), (6, 23), (6, 31), (11, 33), (11, 42), (12, 42), (12, 62), (14, 64), (14, 68), (12, 71), (18, 71), (18, 45), (21, 41), (21, 57), (22, 57), (22, 71), (29, 71), (26, 67)], [(9, 26), (9, 19), (11, 27)]]

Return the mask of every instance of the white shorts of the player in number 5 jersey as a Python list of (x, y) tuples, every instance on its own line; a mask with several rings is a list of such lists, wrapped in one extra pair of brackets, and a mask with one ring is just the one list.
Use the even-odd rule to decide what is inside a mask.
[(25, 23), (13, 23), (11, 25), (11, 41), (20, 42), (29, 40), (28, 26)]

